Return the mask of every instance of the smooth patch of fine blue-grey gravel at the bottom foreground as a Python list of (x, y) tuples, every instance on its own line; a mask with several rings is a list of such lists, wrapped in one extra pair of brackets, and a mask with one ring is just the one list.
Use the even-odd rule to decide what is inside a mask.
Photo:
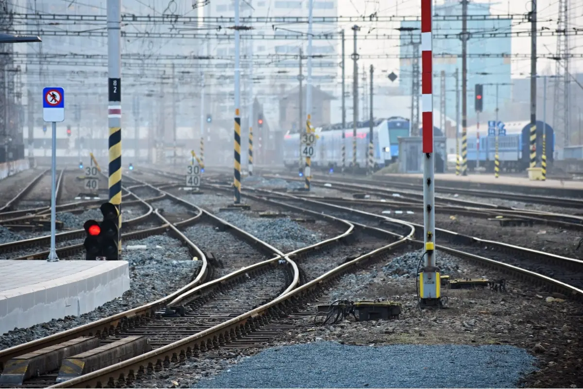
[(514, 346), (348, 346), (268, 349), (196, 388), (514, 388), (535, 368)]

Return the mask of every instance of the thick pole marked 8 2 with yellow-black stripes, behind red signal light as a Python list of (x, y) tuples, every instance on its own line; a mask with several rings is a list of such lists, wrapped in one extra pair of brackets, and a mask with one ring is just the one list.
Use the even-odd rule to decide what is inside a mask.
[[(109, 198), (118, 212), (121, 254), (121, 0), (107, 0), (107, 65), (109, 77)], [(119, 255), (118, 255), (119, 259)]]

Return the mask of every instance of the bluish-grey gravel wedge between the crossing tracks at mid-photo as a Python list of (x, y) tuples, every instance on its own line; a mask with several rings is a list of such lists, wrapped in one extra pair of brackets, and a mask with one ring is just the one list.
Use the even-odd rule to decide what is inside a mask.
[(219, 217), (244, 229), (284, 253), (322, 240), (320, 233), (305, 229), (289, 218), (258, 219), (241, 212), (220, 212)]

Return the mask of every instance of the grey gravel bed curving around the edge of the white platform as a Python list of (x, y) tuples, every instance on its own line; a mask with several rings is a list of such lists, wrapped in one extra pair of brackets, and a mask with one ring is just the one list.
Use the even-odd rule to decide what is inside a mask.
[(125, 241), (125, 244), (145, 244), (147, 247), (156, 248), (124, 250), (123, 259), (129, 262), (131, 289), (122, 297), (79, 317), (68, 316), (10, 331), (0, 338), (0, 349), (47, 337), (160, 299), (191, 282), (201, 265), (200, 261), (190, 260), (187, 248), (181, 247), (177, 240), (165, 235)]

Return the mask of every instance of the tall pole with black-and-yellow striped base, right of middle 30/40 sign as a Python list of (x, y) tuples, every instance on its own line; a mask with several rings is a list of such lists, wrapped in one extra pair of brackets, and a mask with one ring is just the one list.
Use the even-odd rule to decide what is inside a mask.
[(234, 203), (241, 203), (241, 117), (239, 106), (241, 104), (241, 69), (240, 66), (240, 26), (239, 26), (239, 0), (234, 0), (235, 6), (235, 141), (234, 141)]

